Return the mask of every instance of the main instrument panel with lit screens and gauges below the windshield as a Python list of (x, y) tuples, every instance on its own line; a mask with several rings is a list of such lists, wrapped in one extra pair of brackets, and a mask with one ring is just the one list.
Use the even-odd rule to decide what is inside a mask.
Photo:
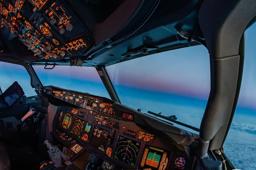
[(85, 169), (79, 162), (88, 159), (88, 152), (101, 158), (99, 170), (189, 168), (184, 148), (141, 129), (134, 115), (113, 110), (112, 100), (53, 86), (43, 92), (61, 101), (52, 136), (67, 147), (65, 155), (74, 170)]

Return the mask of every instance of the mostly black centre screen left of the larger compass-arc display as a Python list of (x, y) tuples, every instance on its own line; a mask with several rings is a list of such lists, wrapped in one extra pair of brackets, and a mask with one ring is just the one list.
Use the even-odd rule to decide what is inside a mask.
[(108, 142), (109, 131), (101, 127), (95, 126), (93, 129), (93, 135), (90, 140), (90, 145), (104, 152), (106, 144)]

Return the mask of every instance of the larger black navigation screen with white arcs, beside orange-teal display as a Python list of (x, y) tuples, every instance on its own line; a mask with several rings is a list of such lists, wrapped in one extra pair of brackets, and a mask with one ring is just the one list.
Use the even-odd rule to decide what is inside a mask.
[(140, 142), (119, 136), (114, 158), (134, 166), (140, 150)]

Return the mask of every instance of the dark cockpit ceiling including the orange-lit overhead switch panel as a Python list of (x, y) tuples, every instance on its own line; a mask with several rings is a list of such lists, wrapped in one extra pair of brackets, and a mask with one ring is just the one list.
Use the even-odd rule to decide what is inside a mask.
[(92, 66), (166, 47), (198, 45), (180, 37), (178, 31), (202, 38), (200, 4), (189, 0), (3, 0), (0, 51), (34, 64), (68, 65), (76, 57)]

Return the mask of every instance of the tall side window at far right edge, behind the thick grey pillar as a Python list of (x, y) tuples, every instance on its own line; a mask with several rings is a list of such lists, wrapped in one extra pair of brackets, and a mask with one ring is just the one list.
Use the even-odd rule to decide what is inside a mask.
[(245, 31), (244, 68), (224, 152), (236, 169), (256, 168), (256, 23)]

